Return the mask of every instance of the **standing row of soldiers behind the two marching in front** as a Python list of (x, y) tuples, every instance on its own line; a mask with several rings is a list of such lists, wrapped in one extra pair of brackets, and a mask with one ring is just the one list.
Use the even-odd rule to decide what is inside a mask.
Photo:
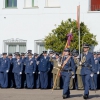
[[(100, 67), (100, 52), (94, 52), (95, 60), (95, 74), (90, 79), (90, 89), (99, 88), (99, 67)], [(61, 56), (59, 53), (51, 51), (47, 55), (47, 51), (43, 51), (41, 55), (32, 54), (32, 50), (28, 50), (28, 55), (25, 53), (21, 55), (16, 52), (13, 58), (12, 54), (3, 53), (3, 57), (0, 58), (0, 86), (2, 88), (14, 87), (21, 88), (52, 88), (55, 81), (57, 71), (59, 69), (58, 63), (61, 62)], [(81, 65), (79, 65), (80, 57), (78, 51), (72, 52), (75, 67), (75, 78), (70, 79), (69, 88), (84, 89)], [(63, 82), (61, 75), (57, 77), (57, 82), (54, 89), (63, 88)], [(94, 83), (92, 82), (94, 81)]]

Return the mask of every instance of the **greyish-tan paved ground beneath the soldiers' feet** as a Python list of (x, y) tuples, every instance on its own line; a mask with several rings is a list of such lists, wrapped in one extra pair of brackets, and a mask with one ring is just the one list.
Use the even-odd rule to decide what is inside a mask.
[[(68, 100), (83, 100), (83, 91), (71, 90)], [(100, 100), (100, 90), (90, 91), (88, 100)], [(0, 100), (63, 100), (62, 90), (27, 90), (27, 89), (0, 89)]]

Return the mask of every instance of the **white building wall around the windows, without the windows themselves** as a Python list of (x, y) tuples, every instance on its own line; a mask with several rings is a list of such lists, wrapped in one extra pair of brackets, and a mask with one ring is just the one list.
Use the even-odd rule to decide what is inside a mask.
[[(81, 5), (81, 21), (99, 39), (100, 12), (88, 12), (89, 0), (60, 0), (60, 8), (45, 8), (45, 0), (38, 0), (38, 7), (23, 9), (24, 0), (17, 0), (17, 9), (5, 9), (4, 0), (0, 0), (0, 47), (3, 40), (19, 38), (27, 40), (27, 49), (34, 50), (34, 40), (43, 39), (49, 32), (59, 25), (62, 20), (76, 19), (77, 6)], [(98, 45), (95, 50), (100, 47)], [(0, 48), (0, 52), (3, 49)], [(34, 52), (34, 51), (33, 51)]]

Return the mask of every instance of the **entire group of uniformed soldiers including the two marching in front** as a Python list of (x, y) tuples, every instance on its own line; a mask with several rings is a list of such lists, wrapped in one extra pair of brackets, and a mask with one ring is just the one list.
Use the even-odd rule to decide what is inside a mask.
[(27, 89), (63, 89), (63, 99), (70, 97), (70, 90), (84, 90), (83, 98), (89, 97), (89, 90), (100, 89), (100, 52), (89, 52), (84, 44), (83, 53), (65, 48), (62, 54), (43, 51), (42, 54), (28, 50), (27, 54), (3, 53), (0, 58), (0, 87)]

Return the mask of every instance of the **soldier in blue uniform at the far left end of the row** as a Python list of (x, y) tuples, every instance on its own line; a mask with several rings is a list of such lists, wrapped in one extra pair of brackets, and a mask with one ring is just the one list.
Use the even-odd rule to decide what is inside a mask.
[(1, 88), (8, 87), (8, 72), (10, 69), (10, 62), (7, 58), (7, 53), (3, 53), (3, 57), (0, 59), (0, 85)]

